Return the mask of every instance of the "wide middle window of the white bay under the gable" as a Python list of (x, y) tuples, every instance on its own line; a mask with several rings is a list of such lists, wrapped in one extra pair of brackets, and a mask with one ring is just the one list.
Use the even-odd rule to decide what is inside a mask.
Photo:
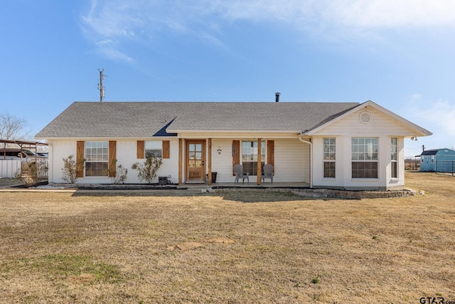
[(378, 137), (352, 137), (353, 179), (378, 178)]

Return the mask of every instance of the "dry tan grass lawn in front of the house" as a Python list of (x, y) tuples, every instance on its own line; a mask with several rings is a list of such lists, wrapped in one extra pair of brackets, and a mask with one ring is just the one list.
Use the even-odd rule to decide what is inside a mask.
[(1, 303), (455, 300), (455, 177), (425, 195), (0, 192)]

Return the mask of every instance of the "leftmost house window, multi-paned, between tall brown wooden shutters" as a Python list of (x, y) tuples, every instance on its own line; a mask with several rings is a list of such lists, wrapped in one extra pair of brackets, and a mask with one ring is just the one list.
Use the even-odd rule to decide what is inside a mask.
[(85, 142), (85, 176), (107, 177), (109, 142)]

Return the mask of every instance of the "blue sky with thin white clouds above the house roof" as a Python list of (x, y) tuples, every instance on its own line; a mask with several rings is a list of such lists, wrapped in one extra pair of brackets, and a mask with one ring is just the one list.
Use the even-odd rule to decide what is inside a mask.
[(74, 101), (375, 103), (455, 147), (455, 1), (0, 0), (0, 104), (32, 135)]

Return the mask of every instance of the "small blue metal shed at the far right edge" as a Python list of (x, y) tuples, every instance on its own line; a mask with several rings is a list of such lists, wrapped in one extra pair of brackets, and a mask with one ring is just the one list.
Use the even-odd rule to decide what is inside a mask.
[(420, 154), (420, 171), (454, 172), (455, 151), (451, 149), (426, 150)]

